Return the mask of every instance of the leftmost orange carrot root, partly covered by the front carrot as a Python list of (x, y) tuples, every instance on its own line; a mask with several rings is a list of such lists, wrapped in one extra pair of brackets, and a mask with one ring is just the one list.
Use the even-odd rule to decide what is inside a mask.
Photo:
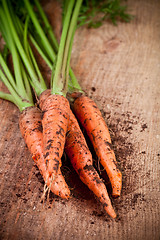
[(38, 166), (46, 185), (54, 194), (68, 199), (70, 190), (62, 176), (60, 168), (54, 182), (52, 182), (51, 178), (47, 178), (47, 169), (43, 157), (43, 133), (40, 110), (36, 107), (26, 108), (20, 115), (19, 126), (28, 149), (32, 154), (32, 158)]

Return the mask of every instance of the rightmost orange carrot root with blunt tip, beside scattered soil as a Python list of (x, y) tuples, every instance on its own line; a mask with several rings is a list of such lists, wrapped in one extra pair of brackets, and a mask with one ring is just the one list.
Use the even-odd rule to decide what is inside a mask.
[(95, 102), (82, 95), (74, 101), (74, 112), (85, 128), (95, 152), (105, 168), (112, 185), (112, 195), (120, 196), (122, 174), (117, 168), (117, 162), (111, 145), (107, 125)]

